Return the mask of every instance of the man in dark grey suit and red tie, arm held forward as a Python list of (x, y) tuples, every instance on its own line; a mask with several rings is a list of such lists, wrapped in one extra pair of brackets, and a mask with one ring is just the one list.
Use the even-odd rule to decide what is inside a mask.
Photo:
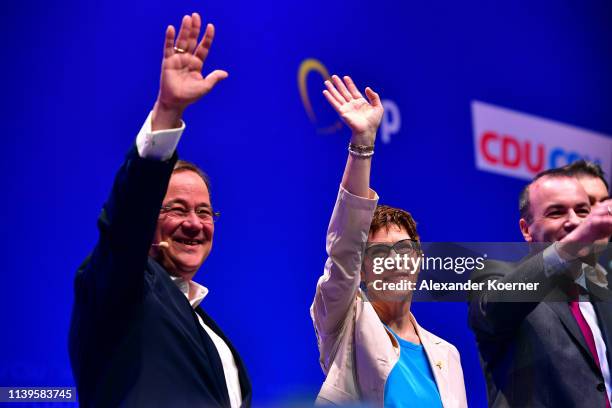
[[(591, 206), (568, 169), (538, 175), (520, 199), (529, 256), (489, 262), (475, 281), (537, 283), (530, 293), (472, 293), (476, 335), (494, 407), (609, 407), (612, 367), (610, 291), (596, 276), (612, 235), (612, 200)], [(595, 271), (594, 271), (595, 270)]]

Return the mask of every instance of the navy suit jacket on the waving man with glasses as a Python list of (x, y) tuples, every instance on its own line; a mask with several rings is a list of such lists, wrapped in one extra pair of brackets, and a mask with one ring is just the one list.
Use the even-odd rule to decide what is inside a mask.
[(250, 405), (238, 352), (148, 256), (176, 160), (130, 151), (98, 219), (98, 243), (77, 272), (69, 351), (82, 406), (229, 406), (221, 360), (196, 313), (232, 351)]

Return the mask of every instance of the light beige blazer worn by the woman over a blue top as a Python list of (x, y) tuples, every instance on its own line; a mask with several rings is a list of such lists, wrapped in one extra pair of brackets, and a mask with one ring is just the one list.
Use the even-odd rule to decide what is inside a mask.
[[(376, 200), (340, 189), (327, 233), (323, 276), (317, 283), (311, 317), (326, 375), (317, 397), (321, 404), (366, 401), (384, 405), (389, 373), (399, 360), (399, 344), (359, 289), (364, 244)], [(466, 407), (463, 371), (457, 349), (418, 325), (442, 405)]]

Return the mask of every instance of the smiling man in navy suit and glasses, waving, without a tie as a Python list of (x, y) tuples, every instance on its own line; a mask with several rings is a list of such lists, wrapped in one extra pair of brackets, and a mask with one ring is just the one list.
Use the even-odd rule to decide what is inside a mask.
[[(209, 182), (178, 161), (182, 112), (225, 71), (201, 75), (214, 37), (200, 16), (166, 30), (160, 91), (98, 219), (99, 240), (75, 278), (70, 359), (82, 406), (249, 406), (230, 341), (199, 303), (193, 276), (214, 234)], [(160, 210), (161, 209), (161, 210)]]

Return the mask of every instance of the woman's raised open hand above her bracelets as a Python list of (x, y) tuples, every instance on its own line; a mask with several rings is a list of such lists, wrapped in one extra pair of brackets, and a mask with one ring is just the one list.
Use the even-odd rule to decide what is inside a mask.
[(351, 141), (372, 146), (384, 111), (380, 97), (368, 87), (365, 89), (368, 102), (349, 76), (343, 79), (333, 75), (331, 80), (325, 81), (327, 89), (323, 95), (353, 131)]

